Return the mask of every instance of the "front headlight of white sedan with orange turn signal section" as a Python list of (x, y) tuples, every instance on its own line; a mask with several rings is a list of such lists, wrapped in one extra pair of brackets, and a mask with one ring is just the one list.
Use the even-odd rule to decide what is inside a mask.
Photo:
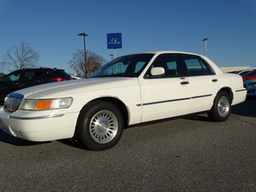
[(58, 110), (71, 106), (73, 98), (24, 99), (19, 110)]

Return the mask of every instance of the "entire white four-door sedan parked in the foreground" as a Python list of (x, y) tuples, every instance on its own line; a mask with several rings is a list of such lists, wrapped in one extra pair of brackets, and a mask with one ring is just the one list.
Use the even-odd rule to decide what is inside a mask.
[(90, 150), (106, 150), (126, 126), (198, 112), (222, 122), (245, 99), (242, 78), (223, 74), (209, 58), (146, 52), (116, 58), (88, 79), (9, 94), (0, 127), (30, 141), (76, 137)]

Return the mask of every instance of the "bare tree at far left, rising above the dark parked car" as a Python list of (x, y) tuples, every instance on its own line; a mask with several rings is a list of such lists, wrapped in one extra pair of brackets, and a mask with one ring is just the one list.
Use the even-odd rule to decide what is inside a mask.
[(7, 70), (21, 70), (34, 67), (38, 63), (39, 54), (35, 52), (26, 41), (20, 42), (19, 46), (11, 46), (0, 64)]

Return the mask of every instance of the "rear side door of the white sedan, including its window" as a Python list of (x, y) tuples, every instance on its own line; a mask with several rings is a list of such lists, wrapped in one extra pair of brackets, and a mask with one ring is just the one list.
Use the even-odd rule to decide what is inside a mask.
[(189, 82), (190, 113), (210, 110), (214, 101), (214, 93), (220, 83), (214, 70), (201, 57), (191, 54), (181, 54), (186, 64), (186, 76)]

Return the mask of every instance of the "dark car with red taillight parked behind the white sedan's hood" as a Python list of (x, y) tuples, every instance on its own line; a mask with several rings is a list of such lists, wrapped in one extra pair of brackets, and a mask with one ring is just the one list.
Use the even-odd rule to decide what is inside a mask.
[(3, 105), (7, 94), (15, 90), (21, 90), (29, 86), (37, 86), (49, 82), (62, 82), (71, 80), (69, 74), (64, 70), (56, 68), (37, 68), (15, 70), (10, 74), (0, 78), (0, 106)]

